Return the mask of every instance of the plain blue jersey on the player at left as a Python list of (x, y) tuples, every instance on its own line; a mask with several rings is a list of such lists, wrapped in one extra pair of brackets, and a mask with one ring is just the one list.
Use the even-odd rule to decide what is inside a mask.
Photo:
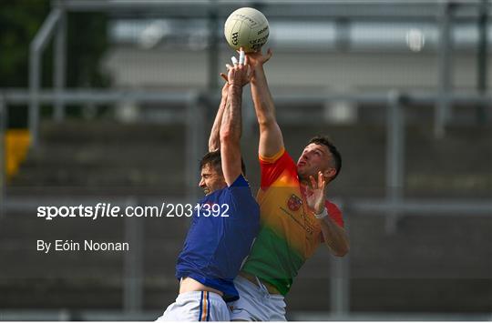
[[(242, 175), (231, 187), (201, 198), (199, 206), (194, 209), (191, 227), (178, 257), (176, 277), (193, 278), (220, 290), (224, 300), (236, 300), (239, 295), (232, 280), (238, 275), (258, 234), (260, 207)], [(216, 217), (208, 212), (213, 207), (218, 211)]]

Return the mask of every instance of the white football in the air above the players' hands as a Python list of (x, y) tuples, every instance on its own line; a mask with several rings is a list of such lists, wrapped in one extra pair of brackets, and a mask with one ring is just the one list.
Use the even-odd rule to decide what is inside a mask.
[(255, 52), (268, 40), (268, 20), (254, 8), (239, 8), (227, 18), (224, 35), (232, 49), (242, 46), (246, 53)]

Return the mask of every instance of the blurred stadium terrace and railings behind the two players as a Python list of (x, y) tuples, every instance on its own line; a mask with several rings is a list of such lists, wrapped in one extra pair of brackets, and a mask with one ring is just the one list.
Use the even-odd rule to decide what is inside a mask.
[[(189, 219), (36, 208), (194, 203), (241, 6), (270, 23), (287, 150), (322, 134), (343, 156), (328, 195), (351, 251), (319, 248), (288, 318), (492, 319), (492, 1), (4, 0), (0, 320), (153, 320), (174, 301)], [(242, 110), (256, 191), (249, 88)], [(131, 248), (43, 254), (38, 239)]]

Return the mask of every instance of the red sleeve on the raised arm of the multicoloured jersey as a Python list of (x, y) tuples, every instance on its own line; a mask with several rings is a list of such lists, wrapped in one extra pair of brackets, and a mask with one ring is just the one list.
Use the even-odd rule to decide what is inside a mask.
[(272, 186), (273, 182), (281, 176), (284, 170), (290, 170), (292, 173), (296, 173), (297, 169), (289, 156), (285, 148), (282, 148), (275, 156), (265, 157), (260, 156), (260, 170), (261, 170), (261, 189), (265, 190)]

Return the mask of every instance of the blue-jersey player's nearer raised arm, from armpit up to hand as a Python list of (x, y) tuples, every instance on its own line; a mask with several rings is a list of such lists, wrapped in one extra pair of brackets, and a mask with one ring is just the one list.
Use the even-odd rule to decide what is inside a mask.
[(222, 172), (228, 186), (241, 174), (241, 99), (242, 86), (250, 81), (250, 68), (247, 65), (234, 65), (229, 68), (229, 89), (227, 104), (220, 125), (220, 156)]

